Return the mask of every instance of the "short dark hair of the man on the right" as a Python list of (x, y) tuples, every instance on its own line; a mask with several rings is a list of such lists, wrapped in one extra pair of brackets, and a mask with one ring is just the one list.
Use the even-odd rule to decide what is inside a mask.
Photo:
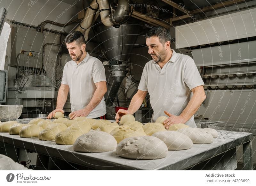
[(153, 27), (150, 29), (146, 34), (146, 39), (152, 36), (157, 36), (162, 45), (164, 45), (164, 43), (167, 41), (171, 42), (171, 34), (169, 30), (161, 26)]

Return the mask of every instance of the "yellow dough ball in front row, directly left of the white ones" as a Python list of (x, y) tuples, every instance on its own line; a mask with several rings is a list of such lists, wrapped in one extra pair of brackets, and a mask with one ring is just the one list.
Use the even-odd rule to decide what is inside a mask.
[(78, 130), (64, 130), (55, 136), (55, 142), (59, 145), (73, 145), (76, 139), (82, 134)]

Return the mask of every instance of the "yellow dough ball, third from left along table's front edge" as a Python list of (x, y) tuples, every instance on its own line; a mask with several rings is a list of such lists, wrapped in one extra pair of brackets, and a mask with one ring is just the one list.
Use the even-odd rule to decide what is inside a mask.
[(19, 136), (22, 138), (37, 137), (41, 130), (43, 130), (42, 127), (36, 124), (30, 124), (20, 129)]

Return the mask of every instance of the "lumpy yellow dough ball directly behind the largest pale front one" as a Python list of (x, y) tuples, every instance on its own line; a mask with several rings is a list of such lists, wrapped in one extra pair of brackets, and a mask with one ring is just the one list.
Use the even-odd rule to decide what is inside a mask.
[(116, 131), (112, 136), (114, 136), (117, 143), (119, 143), (125, 138), (146, 136), (146, 134), (144, 131), (142, 132), (142, 130), (132, 130), (132, 128), (124, 126), (123, 129)]

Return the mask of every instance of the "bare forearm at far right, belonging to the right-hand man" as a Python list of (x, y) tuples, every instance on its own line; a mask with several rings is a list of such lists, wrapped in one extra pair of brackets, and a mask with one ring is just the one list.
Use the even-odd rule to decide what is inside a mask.
[(180, 116), (184, 118), (184, 121), (187, 122), (199, 109), (201, 104), (205, 99), (204, 91), (196, 91), (193, 93), (191, 100), (188, 102), (187, 107), (182, 111)]

